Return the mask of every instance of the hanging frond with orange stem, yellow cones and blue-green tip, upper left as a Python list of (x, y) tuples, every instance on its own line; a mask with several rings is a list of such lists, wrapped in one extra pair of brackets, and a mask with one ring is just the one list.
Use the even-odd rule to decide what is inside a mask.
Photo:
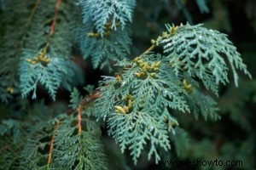
[(55, 3), (38, 1), (35, 4), (20, 58), (21, 93), (26, 96), (32, 91), (32, 99), (36, 98), (38, 82), (48, 90), (52, 99), (55, 99), (61, 82), (71, 88), (74, 65), (69, 58), (73, 31), (70, 31), (69, 22), (75, 6)]

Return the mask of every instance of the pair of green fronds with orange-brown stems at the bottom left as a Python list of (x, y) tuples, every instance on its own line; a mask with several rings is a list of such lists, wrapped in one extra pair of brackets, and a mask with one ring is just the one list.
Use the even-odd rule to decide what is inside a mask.
[(79, 133), (77, 116), (61, 114), (49, 120), (44, 118), (30, 119), (36, 124), (28, 130), (26, 138), (20, 141), (23, 145), (18, 148), (20, 152), (16, 153), (17, 158), (10, 159), (5, 166), (9, 163), (9, 167), (24, 170), (107, 168), (98, 123), (84, 118)]

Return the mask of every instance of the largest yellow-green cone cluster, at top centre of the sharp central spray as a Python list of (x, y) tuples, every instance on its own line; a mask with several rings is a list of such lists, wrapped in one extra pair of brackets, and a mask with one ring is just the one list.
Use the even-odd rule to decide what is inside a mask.
[(134, 59), (137, 65), (142, 69), (142, 71), (137, 72), (137, 77), (144, 77), (148, 75), (149, 77), (155, 77), (156, 73), (159, 71), (160, 61), (154, 62), (152, 65), (148, 65), (147, 62), (144, 62), (143, 59), (139, 59), (138, 57)]

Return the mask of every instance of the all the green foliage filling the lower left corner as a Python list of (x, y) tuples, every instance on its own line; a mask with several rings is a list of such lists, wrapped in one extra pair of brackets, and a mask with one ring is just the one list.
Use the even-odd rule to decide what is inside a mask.
[[(74, 90), (72, 98), (76, 98), (75, 93)], [(27, 122), (1, 122), (0, 168), (107, 169), (100, 126), (86, 112), (51, 117), (54, 112), (41, 102), (27, 113)]]

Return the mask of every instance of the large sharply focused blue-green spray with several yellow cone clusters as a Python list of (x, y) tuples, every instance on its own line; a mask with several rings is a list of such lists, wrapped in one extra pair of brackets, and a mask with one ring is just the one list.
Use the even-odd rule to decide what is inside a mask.
[(224, 34), (201, 25), (167, 26), (152, 43), (148, 50), (158, 46), (164, 54), (148, 54), (147, 50), (131, 61), (119, 62), (123, 71), (116, 77), (105, 77), (101, 98), (96, 100), (97, 116), (108, 122), (108, 133), (121, 151), (131, 150), (135, 163), (145, 145), (150, 148), (148, 159), (154, 156), (158, 162), (157, 148), (169, 150), (170, 140), (176, 141), (179, 121), (172, 110), (190, 112), (195, 118), (201, 114), (206, 120), (219, 118), (217, 103), (201, 92), (198, 82), (218, 95), (218, 84), (229, 82), (224, 57), (236, 85), (236, 69), (250, 76)]

